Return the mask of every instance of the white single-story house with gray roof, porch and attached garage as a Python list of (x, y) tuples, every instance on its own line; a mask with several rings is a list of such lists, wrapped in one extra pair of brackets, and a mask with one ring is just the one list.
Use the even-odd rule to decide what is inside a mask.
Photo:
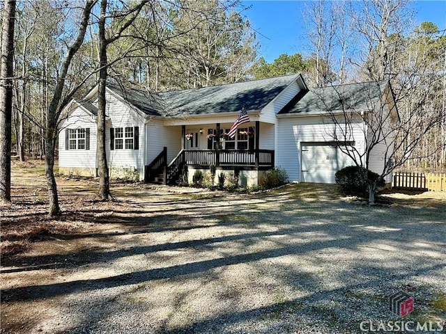
[[(96, 95), (97, 87), (63, 112), (59, 173), (98, 173)], [(291, 182), (334, 183), (334, 173), (352, 164), (339, 144), (358, 153), (366, 149), (369, 125), (359, 115), (385, 113), (391, 116), (386, 122), (397, 120), (388, 84), (309, 90), (299, 74), (162, 93), (109, 85), (106, 95), (111, 175), (130, 173), (146, 182), (162, 176), (167, 184), (184, 166), (191, 178), (212, 165), (217, 175), (238, 174), (241, 185), (257, 184), (274, 166), (284, 168)], [(249, 122), (234, 138), (225, 136), (243, 106)], [(374, 148), (371, 170), (380, 173), (384, 152), (383, 145)]]

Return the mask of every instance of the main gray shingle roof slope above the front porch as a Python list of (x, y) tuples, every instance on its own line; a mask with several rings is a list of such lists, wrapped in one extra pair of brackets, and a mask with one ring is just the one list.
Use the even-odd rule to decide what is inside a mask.
[(298, 74), (238, 82), (221, 86), (176, 90), (160, 93), (169, 106), (168, 116), (178, 117), (209, 113), (261, 110), (291, 84)]

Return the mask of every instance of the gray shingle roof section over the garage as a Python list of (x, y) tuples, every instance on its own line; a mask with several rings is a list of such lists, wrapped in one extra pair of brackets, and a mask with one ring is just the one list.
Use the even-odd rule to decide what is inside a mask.
[(295, 99), (279, 114), (317, 115), (327, 111), (371, 110), (383, 96), (385, 81), (370, 81), (360, 84), (345, 84), (312, 88), (303, 97)]

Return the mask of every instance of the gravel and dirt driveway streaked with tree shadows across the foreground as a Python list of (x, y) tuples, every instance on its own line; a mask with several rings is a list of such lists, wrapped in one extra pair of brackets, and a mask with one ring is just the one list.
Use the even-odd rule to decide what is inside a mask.
[(366, 207), (314, 184), (119, 184), (101, 203), (95, 182), (60, 179), (64, 214), (48, 220), (42, 170), (13, 184), (2, 252), (24, 251), (3, 258), (1, 333), (362, 333), (401, 320), (400, 290), (415, 299), (403, 321), (446, 321), (441, 194)]

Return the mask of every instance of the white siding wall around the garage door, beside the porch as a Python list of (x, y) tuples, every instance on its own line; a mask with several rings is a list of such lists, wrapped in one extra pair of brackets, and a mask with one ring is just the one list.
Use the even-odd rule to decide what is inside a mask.
[[(291, 182), (300, 182), (301, 148), (305, 143), (323, 143), (334, 141), (330, 136), (335, 126), (321, 116), (279, 118), (277, 125), (277, 148), (275, 165), (284, 168)], [(355, 148), (363, 150), (364, 134), (360, 124), (353, 130)], [(341, 140), (341, 138), (339, 138)]]

